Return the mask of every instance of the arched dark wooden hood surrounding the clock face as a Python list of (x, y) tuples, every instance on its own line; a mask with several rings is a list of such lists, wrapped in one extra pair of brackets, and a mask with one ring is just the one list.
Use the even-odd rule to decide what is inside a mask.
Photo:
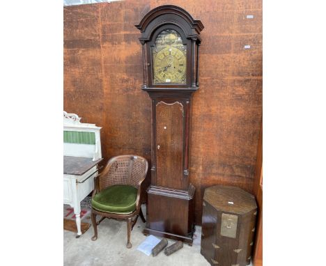
[[(166, 5), (150, 10), (135, 26), (141, 31), (139, 41), (142, 45), (143, 54), (143, 84), (141, 86), (143, 91), (148, 93), (153, 90), (196, 91), (199, 88), (199, 46), (201, 44), (199, 34), (204, 28), (201, 21), (194, 19), (183, 8)], [(153, 55), (155, 38), (160, 32), (171, 29), (183, 37), (185, 45), (183, 51), (186, 51), (186, 77), (183, 77), (183, 80), (186, 82), (175, 82), (173, 84), (172, 79), (169, 83), (170, 79), (167, 78), (166, 82), (162, 81), (161, 84), (158, 84), (157, 75), (155, 75), (157, 65), (155, 66), (155, 59), (153, 59), (155, 57)], [(166, 67), (168, 66), (166, 65)], [(166, 68), (163, 69), (166, 70)], [(176, 74), (178, 75), (178, 73)]]

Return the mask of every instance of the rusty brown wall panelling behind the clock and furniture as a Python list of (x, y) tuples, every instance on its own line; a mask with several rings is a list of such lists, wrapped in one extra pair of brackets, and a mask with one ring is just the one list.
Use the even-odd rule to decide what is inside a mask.
[(196, 223), (201, 224), (206, 187), (226, 184), (253, 191), (262, 116), (261, 0), (65, 7), (64, 109), (102, 127), (105, 162), (128, 153), (150, 161), (150, 98), (140, 88), (140, 33), (134, 24), (164, 4), (185, 8), (205, 26), (190, 143), (190, 181), (196, 187)]

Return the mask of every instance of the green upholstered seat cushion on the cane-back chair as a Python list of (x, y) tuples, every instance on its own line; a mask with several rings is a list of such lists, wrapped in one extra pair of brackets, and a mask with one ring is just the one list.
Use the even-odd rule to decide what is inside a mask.
[(114, 185), (92, 198), (92, 207), (100, 212), (131, 213), (136, 210), (137, 188)]

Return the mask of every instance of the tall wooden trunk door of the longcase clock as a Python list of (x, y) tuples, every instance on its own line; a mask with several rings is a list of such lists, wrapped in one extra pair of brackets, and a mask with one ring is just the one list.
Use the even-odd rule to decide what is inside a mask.
[(183, 104), (156, 105), (156, 185), (183, 189)]

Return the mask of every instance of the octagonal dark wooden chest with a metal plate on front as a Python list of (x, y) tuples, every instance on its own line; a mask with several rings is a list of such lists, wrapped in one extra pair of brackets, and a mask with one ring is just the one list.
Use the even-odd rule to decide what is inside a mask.
[(257, 205), (239, 187), (217, 185), (205, 189), (201, 254), (210, 265), (249, 265)]

